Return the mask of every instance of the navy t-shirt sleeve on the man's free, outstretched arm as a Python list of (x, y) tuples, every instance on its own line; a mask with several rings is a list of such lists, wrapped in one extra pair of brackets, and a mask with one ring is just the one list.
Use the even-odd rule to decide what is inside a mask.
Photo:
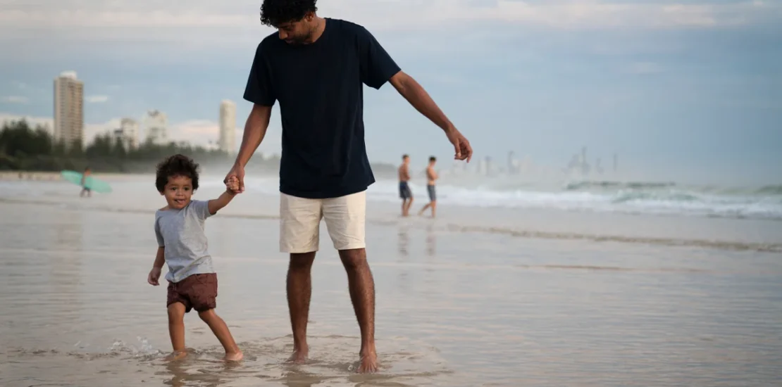
[(400, 72), (386, 49), (380, 45), (366, 28), (358, 29), (359, 58), (361, 60), (361, 81), (370, 88), (379, 89), (391, 77)]

